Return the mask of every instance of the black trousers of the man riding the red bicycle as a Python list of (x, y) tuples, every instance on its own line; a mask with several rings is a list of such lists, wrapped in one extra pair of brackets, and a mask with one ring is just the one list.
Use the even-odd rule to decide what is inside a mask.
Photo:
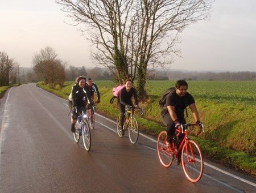
[[(179, 117), (178, 120), (179, 120), (180, 123), (186, 123), (186, 120), (185, 120), (184, 117)], [(166, 128), (166, 131), (167, 131), (167, 141), (169, 143), (172, 143), (173, 142), (173, 137), (174, 137), (174, 132), (175, 132), (175, 123), (174, 123), (174, 121), (172, 121), (171, 116), (170, 116), (169, 113), (166, 113), (164, 115), (163, 123), (167, 127)], [(184, 134), (181, 134), (179, 136), (179, 141), (181, 139), (183, 139), (183, 138), (184, 138)]]

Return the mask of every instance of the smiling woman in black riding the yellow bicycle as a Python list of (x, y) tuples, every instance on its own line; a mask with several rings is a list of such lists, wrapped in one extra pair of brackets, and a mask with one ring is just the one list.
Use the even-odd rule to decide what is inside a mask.
[[(131, 101), (131, 97), (134, 97), (135, 100), (135, 108), (138, 108), (138, 98), (136, 89), (133, 87), (131, 83), (131, 79), (125, 80), (125, 87), (123, 87), (120, 91), (117, 105), (119, 109), (119, 120), (120, 126), (123, 129), (123, 122), (125, 121), (125, 109), (129, 108), (129, 106), (133, 106), (133, 102)], [(125, 134), (125, 130), (122, 130), (122, 134)]]

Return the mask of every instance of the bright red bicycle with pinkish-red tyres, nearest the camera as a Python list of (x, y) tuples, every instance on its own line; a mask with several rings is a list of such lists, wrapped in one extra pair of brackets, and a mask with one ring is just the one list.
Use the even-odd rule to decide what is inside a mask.
[[(189, 181), (195, 183), (198, 182), (203, 175), (204, 161), (199, 145), (189, 139), (188, 136), (189, 127), (193, 126), (199, 125), (191, 123), (181, 124), (180, 129), (176, 129), (173, 143), (174, 152), (167, 150), (167, 132), (160, 132), (158, 135), (158, 157), (165, 168), (169, 168), (175, 160), (177, 160), (178, 164), (180, 164), (181, 161), (186, 177)], [(204, 131), (204, 126), (200, 125), (200, 129)], [(181, 134), (184, 134), (184, 138), (179, 143), (177, 139)]]

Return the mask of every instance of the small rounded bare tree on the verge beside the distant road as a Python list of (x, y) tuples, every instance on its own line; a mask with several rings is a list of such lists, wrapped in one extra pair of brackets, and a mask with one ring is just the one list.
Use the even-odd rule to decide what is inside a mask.
[(41, 49), (32, 60), (33, 70), (43, 78), (44, 84), (54, 87), (54, 84), (63, 85), (65, 79), (65, 63), (57, 58), (55, 50), (51, 47)]

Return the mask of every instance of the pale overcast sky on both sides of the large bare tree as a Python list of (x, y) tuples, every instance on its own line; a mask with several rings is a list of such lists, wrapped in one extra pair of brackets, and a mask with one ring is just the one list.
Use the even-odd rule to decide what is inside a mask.
[[(0, 52), (31, 67), (32, 57), (51, 46), (73, 66), (92, 67), (90, 42), (64, 23), (54, 0), (0, 0)], [(210, 20), (181, 34), (182, 58), (171, 69), (256, 71), (256, 1), (216, 0)]]

